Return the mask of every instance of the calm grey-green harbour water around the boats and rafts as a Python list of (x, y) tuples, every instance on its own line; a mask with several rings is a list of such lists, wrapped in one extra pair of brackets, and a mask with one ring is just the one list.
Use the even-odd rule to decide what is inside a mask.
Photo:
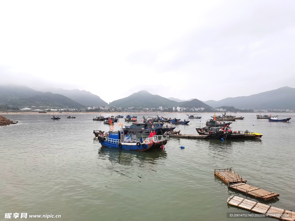
[[(255, 141), (171, 137), (165, 150), (150, 152), (101, 148), (92, 132), (108, 126), (92, 121), (93, 114), (4, 116), (19, 123), (0, 128), (0, 220), (7, 212), (60, 214), (59, 220), (227, 220), (227, 212), (243, 211), (227, 198), (244, 195), (216, 179), (214, 169), (230, 167), (280, 194), (279, 201), (266, 203), (295, 209), (295, 114), (279, 114), (291, 116), (290, 123), (242, 114), (245, 119), (231, 128), (262, 133)], [(176, 130), (196, 134), (197, 123), (210, 116)]]

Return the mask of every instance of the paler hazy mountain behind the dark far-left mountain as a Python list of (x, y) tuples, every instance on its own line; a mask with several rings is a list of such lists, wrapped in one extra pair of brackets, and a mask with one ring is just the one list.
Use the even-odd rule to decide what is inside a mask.
[(52, 93), (64, 95), (87, 107), (108, 105), (108, 103), (102, 100), (99, 96), (92, 94), (86, 90), (64, 90), (62, 88), (48, 88), (43, 91), (50, 91)]

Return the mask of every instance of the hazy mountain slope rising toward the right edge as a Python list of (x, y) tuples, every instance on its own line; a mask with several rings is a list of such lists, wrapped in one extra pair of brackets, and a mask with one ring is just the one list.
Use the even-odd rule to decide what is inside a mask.
[(225, 98), (204, 103), (216, 108), (234, 106), (238, 109), (295, 109), (295, 88), (283, 87), (250, 96)]

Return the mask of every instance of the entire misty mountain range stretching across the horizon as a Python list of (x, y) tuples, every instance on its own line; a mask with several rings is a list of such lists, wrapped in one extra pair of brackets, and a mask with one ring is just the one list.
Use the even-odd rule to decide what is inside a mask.
[(13, 106), (68, 106), (71, 108), (92, 106), (159, 108), (162, 106), (163, 108), (203, 107), (209, 110), (211, 107), (229, 106), (245, 110), (295, 109), (295, 88), (282, 87), (250, 96), (225, 98), (219, 101), (207, 100), (205, 102), (198, 99), (183, 101), (178, 98), (164, 98), (159, 95), (153, 95), (146, 90), (141, 90), (108, 104), (98, 95), (85, 90), (47, 88), (41, 92), (26, 86), (0, 85), (0, 104)]

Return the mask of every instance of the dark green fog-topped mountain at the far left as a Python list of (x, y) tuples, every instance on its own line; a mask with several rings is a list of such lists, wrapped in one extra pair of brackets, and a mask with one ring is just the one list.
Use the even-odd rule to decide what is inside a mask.
[(3, 105), (21, 106), (50, 106), (60, 108), (83, 107), (80, 103), (61, 95), (51, 92), (43, 93), (26, 86), (1, 85), (0, 103)]

